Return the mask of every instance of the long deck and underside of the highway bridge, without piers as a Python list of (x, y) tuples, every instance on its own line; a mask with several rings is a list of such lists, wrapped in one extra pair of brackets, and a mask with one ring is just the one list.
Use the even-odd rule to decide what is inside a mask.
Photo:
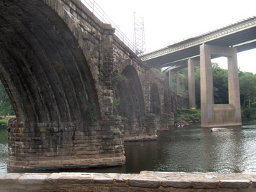
[[(200, 58), (200, 46), (203, 43), (212, 46), (234, 47), (237, 48), (237, 53), (256, 48), (255, 31), (256, 17), (252, 17), (240, 23), (148, 53), (142, 59), (152, 68), (170, 67), (168, 70), (180, 70), (187, 68), (189, 58)], [(217, 57), (219, 55), (212, 55), (212, 58)]]

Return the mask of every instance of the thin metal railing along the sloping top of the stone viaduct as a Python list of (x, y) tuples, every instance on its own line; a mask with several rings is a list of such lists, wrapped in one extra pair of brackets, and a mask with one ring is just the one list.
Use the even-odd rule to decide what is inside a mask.
[[(110, 23), (111, 26), (113, 26), (113, 28), (116, 28), (116, 36), (118, 36), (118, 38), (123, 41), (123, 43), (126, 44), (126, 46), (128, 46), (128, 48), (130, 48), (130, 50), (133, 50), (134, 53), (137, 52), (137, 48), (135, 47), (135, 45), (133, 44), (132, 41), (130, 41), (130, 39), (128, 37), (125, 36), (125, 34), (118, 28), (118, 26), (116, 26), (115, 23), (113, 23), (113, 21), (111, 20), (111, 18), (109, 18), (105, 11), (103, 11), (103, 9), (101, 9), (101, 6), (99, 6), (96, 1), (94, 0), (80, 0), (91, 12), (93, 12), (93, 14), (100, 19), (103, 23)], [(137, 55), (143, 55), (142, 53), (137, 54)]]

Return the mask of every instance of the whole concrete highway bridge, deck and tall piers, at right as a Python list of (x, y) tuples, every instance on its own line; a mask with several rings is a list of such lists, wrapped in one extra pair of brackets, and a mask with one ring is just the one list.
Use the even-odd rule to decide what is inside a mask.
[[(169, 85), (176, 73), (177, 92), (180, 92), (178, 70), (188, 68), (190, 108), (195, 107), (195, 65), (201, 74), (201, 125), (222, 127), (240, 125), (240, 88), (237, 72), (237, 52), (256, 48), (256, 17), (175, 43), (166, 48), (143, 55), (142, 60), (153, 68), (166, 68)], [(213, 73), (210, 60), (227, 57), (229, 104), (215, 105), (213, 100)]]

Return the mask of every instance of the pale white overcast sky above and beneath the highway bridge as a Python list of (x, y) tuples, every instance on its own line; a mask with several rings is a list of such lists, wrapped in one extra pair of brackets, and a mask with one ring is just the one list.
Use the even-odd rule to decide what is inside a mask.
[[(256, 0), (96, 0), (96, 3), (130, 41), (133, 41), (134, 12), (143, 14), (146, 52), (256, 16)], [(256, 73), (255, 56), (256, 49), (238, 53), (238, 68)], [(214, 61), (222, 65), (222, 60)]]

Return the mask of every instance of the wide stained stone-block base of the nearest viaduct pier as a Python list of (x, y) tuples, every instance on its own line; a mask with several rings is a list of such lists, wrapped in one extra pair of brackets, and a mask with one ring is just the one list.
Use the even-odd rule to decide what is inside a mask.
[(9, 122), (9, 171), (82, 169), (126, 162), (120, 116), (93, 124), (63, 124), (61, 129), (48, 129), (46, 124), (30, 126), (25, 129), (17, 121)]

